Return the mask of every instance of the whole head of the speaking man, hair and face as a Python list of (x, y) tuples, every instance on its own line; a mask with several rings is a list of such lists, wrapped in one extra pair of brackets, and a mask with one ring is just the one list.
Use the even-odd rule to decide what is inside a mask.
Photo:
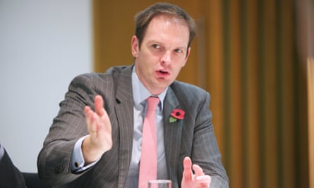
[(195, 24), (181, 8), (155, 4), (136, 16), (131, 40), (135, 73), (151, 94), (176, 80), (190, 54)]

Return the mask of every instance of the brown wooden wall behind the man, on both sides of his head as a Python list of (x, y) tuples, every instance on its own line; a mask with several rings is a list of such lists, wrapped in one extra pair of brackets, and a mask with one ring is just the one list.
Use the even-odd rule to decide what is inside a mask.
[[(100, 1), (95, 71), (131, 64), (133, 16), (157, 1)], [(198, 23), (179, 80), (211, 94), (215, 134), (233, 188), (309, 187), (306, 66), (296, 1), (169, 1)]]

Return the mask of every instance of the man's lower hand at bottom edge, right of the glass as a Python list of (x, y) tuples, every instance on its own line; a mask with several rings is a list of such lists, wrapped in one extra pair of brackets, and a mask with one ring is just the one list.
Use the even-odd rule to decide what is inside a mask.
[[(194, 174), (192, 168), (195, 172)], [(186, 157), (183, 159), (182, 188), (208, 188), (210, 187), (210, 181), (210, 176), (205, 175), (199, 165), (192, 165), (191, 158)]]

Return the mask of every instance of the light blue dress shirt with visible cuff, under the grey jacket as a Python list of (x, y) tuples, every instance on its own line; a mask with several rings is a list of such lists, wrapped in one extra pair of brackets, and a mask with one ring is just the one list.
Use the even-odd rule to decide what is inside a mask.
[[(168, 89), (168, 88), (167, 88)], [(162, 108), (164, 97), (166, 96), (167, 89), (164, 92), (158, 95), (159, 102), (158, 108), (156, 109), (156, 125), (157, 125), (157, 179), (169, 179), (167, 173), (167, 163), (166, 156), (164, 153), (164, 123), (162, 117)], [(127, 188), (137, 188), (138, 187), (138, 171), (139, 171), (139, 163), (140, 163), (140, 151), (142, 144), (142, 130), (143, 130), (143, 120), (146, 114), (146, 99), (149, 96), (152, 96), (150, 92), (145, 88), (145, 86), (140, 82), (138, 76), (135, 73), (135, 67), (133, 67), (132, 71), (132, 90), (133, 90), (133, 147), (132, 147), (132, 156), (130, 168), (128, 170), (128, 177), (126, 179)], [(95, 165), (99, 161), (95, 161), (94, 163), (90, 163), (89, 165), (85, 165), (85, 161), (83, 158), (83, 153), (81, 150), (81, 145), (85, 137), (81, 137), (76, 142), (73, 155), (71, 158), (71, 170), (73, 173), (80, 173), (90, 167)]]

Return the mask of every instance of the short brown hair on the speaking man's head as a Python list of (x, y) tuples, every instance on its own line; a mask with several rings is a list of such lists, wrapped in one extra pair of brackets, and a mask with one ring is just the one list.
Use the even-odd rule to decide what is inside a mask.
[(152, 18), (157, 15), (170, 15), (186, 21), (190, 31), (188, 47), (196, 35), (196, 26), (193, 18), (179, 6), (169, 3), (157, 3), (146, 8), (144, 11), (135, 15), (135, 36), (138, 37), (139, 45), (142, 44), (145, 32)]

